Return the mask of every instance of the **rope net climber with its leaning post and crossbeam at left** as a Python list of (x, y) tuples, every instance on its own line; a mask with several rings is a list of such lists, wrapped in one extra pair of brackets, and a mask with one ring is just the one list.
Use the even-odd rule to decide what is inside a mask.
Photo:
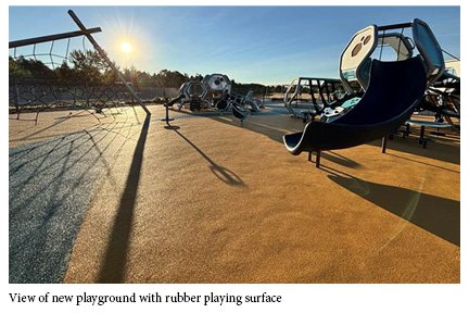
[[(69, 16), (79, 27), (77, 32), (62, 33), (41, 36), (24, 40), (9, 42), (10, 49), (10, 79), (9, 79), (9, 104), (14, 108), (16, 118), (20, 118), (24, 110), (36, 112), (36, 123), (39, 113), (60, 107), (78, 107), (84, 110), (103, 113), (103, 109), (116, 108), (117, 105), (137, 102), (150, 114), (142, 100), (134, 91), (131, 85), (126, 82), (116, 65), (109, 59), (106, 52), (92, 37), (92, 34), (101, 32), (100, 27), (86, 28), (78, 16), (68, 10)], [(81, 41), (77, 45), (76, 40)], [(91, 47), (87, 47), (90, 43)], [(48, 46), (48, 51), (39, 51), (40, 47)], [(93, 50), (90, 50), (93, 49)], [(101, 59), (101, 68), (98, 75), (105, 79), (90, 85), (83, 79), (67, 77), (58, 78), (55, 74), (60, 71), (69, 71), (74, 61), (72, 49), (78, 49), (78, 57), (92, 55)], [(27, 50), (28, 52), (23, 52)], [(78, 58), (75, 57), (75, 58)], [(76, 61), (76, 59), (75, 59)], [(29, 77), (22, 64), (30, 64), (39, 67), (49, 77)], [(76, 77), (75, 77), (76, 78)]]

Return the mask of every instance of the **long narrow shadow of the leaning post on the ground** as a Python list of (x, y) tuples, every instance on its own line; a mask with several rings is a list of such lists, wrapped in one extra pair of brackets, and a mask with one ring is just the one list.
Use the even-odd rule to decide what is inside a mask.
[(107, 245), (98, 283), (122, 283), (124, 278), (131, 224), (134, 221), (134, 209), (143, 161), (143, 148), (147, 141), (149, 126), (150, 115), (147, 115), (134, 152), (126, 188), (121, 198), (121, 204), (114, 220), (111, 239)]

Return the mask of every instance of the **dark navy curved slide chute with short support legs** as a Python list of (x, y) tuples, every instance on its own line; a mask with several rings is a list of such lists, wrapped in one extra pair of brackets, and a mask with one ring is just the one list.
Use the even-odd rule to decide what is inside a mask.
[[(400, 88), (396, 88), (398, 82)], [(316, 167), (321, 150), (359, 146), (388, 136), (413, 114), (427, 88), (427, 76), (420, 57), (405, 61), (373, 60), (370, 80), (362, 100), (348, 113), (330, 122), (309, 122), (303, 132), (284, 135), (283, 142), (294, 155), (316, 152)]]

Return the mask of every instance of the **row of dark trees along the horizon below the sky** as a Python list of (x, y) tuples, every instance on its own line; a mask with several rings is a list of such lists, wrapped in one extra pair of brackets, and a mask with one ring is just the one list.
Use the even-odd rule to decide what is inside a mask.
[[(63, 62), (60, 66), (51, 68), (37, 59), (9, 58), (9, 73), (11, 79), (46, 79), (58, 85), (109, 85), (118, 80), (117, 75), (106, 64), (103, 58), (93, 50), (74, 50), (69, 53), (69, 62)], [(116, 65), (114, 63), (114, 65)], [(118, 66), (116, 66), (119, 68)], [(190, 80), (200, 82), (201, 74), (188, 75), (178, 71), (162, 70), (160, 73), (150, 74), (137, 70), (135, 66), (121, 70), (125, 79), (136, 87), (166, 87), (179, 88)], [(240, 84), (232, 80), (232, 89), (239, 93), (253, 90), (255, 95), (284, 91), (278, 86), (265, 86), (262, 84)]]

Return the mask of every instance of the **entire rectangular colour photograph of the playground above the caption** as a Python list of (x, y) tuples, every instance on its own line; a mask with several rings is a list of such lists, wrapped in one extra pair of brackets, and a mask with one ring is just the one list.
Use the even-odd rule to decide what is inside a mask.
[(47, 10), (10, 8), (10, 284), (460, 283), (459, 8)]

